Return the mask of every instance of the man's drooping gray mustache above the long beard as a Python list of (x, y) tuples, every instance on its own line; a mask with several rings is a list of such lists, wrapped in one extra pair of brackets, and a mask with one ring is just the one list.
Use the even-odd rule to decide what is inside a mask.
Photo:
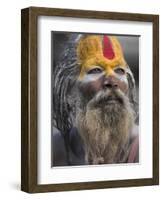
[(125, 105), (126, 96), (119, 90), (105, 89), (99, 91), (89, 102), (90, 106), (100, 107), (109, 104)]

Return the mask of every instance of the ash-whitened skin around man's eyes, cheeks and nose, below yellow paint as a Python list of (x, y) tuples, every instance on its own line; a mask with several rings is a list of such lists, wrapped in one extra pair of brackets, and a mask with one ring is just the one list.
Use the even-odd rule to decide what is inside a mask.
[(128, 94), (128, 81), (126, 70), (122, 67), (115, 67), (112, 75), (106, 75), (105, 71), (95, 66), (88, 71), (83, 79), (78, 82), (78, 87), (84, 98), (91, 99), (102, 89), (120, 89), (126, 95)]

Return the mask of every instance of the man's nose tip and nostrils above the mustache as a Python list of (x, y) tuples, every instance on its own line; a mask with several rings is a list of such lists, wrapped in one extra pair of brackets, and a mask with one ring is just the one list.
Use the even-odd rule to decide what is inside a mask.
[(118, 80), (113, 75), (107, 76), (104, 79), (103, 87), (105, 89), (117, 89), (118, 88)]

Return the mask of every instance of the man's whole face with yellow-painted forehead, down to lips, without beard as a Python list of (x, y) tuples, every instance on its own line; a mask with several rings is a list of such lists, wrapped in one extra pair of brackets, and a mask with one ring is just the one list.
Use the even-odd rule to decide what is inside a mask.
[(82, 63), (78, 83), (83, 98), (89, 101), (103, 91), (104, 100), (113, 104), (120, 100), (117, 92), (127, 96), (127, 64), (116, 38), (88, 36), (80, 42), (78, 56)]

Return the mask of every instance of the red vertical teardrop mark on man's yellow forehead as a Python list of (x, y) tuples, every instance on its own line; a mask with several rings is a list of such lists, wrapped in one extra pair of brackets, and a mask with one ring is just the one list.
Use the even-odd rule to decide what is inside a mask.
[(115, 57), (112, 43), (111, 43), (109, 37), (106, 35), (103, 37), (103, 55), (105, 58), (108, 58), (110, 60)]

